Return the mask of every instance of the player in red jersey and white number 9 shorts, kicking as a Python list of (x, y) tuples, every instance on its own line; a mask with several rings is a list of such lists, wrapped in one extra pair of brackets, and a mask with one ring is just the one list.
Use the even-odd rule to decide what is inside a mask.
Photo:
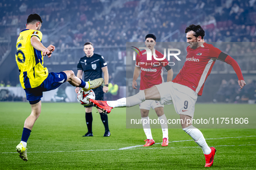
[[(117, 101), (91, 100), (98, 108), (106, 110), (108, 113), (114, 107), (132, 107), (145, 100), (160, 101), (161, 104), (173, 102), (175, 111), (180, 115), (182, 129), (194, 139), (202, 148), (205, 156), (205, 167), (211, 167), (216, 149), (209, 148), (204, 135), (192, 124), (187, 124), (188, 120), (194, 116), (194, 105), (198, 96), (202, 95), (204, 82), (211, 73), (211, 69), (216, 60), (221, 60), (230, 64), (238, 77), (238, 85), (242, 89), (246, 83), (243, 79), (241, 69), (232, 57), (221, 52), (218, 48), (204, 42), (204, 30), (200, 25), (189, 25), (186, 30), (186, 37), (189, 46), (187, 47), (187, 57), (184, 66), (172, 82), (165, 82), (155, 85), (138, 94), (128, 98), (121, 98)], [(191, 121), (192, 122), (192, 121)]]

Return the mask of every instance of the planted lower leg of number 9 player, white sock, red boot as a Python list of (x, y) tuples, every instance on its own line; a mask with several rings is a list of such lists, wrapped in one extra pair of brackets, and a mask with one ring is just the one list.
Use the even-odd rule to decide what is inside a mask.
[(180, 118), (184, 120), (184, 122), (182, 122), (181, 124), (182, 130), (184, 130), (188, 135), (190, 135), (191, 138), (194, 139), (194, 142), (196, 142), (196, 144), (198, 144), (198, 146), (202, 148), (206, 161), (205, 167), (211, 167), (214, 162), (214, 155), (216, 149), (214, 147), (209, 148), (204, 139), (204, 135), (199, 129), (195, 128), (192, 124), (187, 125), (185, 123), (185, 120), (191, 120), (190, 116), (180, 114)]

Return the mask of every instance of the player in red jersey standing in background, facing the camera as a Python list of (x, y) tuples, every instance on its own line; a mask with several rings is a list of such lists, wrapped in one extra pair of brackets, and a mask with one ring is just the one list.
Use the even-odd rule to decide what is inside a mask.
[[(145, 45), (149, 50), (151, 50), (151, 54), (153, 56), (154, 47), (156, 45), (156, 36), (153, 34), (148, 34), (145, 37)], [(163, 54), (159, 51), (155, 50), (155, 56), (157, 58), (163, 58)], [(163, 78), (163, 67), (168, 71), (167, 74), (167, 82), (172, 81), (173, 71), (171, 66), (168, 64), (168, 60), (166, 58), (162, 60), (159, 64), (159, 61), (152, 57), (151, 61), (147, 60), (147, 52), (146, 50), (141, 51), (141, 54), (137, 54), (136, 56), (136, 64), (133, 72), (133, 88), (137, 89), (136, 80), (139, 77), (140, 73), (140, 87), (139, 90), (145, 90), (147, 88), (151, 88), (154, 85), (159, 85), (164, 82)], [(141, 71), (141, 72), (140, 72)], [(163, 123), (161, 124), (162, 133), (163, 133), (163, 142), (162, 146), (168, 146), (169, 138), (168, 138), (168, 124), (167, 119), (164, 114), (164, 105), (160, 104), (159, 101), (147, 100), (143, 101), (139, 104), (141, 119), (146, 119), (146, 124), (143, 123), (143, 129), (146, 134), (147, 139), (145, 140), (146, 144), (143, 146), (151, 146), (155, 143), (152, 137), (150, 122), (149, 122), (149, 110), (152, 108), (156, 111), (156, 114), (159, 118), (159, 121)], [(143, 122), (143, 121), (142, 121)]]

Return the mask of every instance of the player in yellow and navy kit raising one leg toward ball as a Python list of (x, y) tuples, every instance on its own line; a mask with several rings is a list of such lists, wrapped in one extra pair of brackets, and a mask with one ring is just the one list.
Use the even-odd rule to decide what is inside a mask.
[(26, 29), (22, 30), (16, 44), (16, 62), (19, 67), (19, 81), (26, 91), (26, 98), (29, 101), (32, 112), (25, 120), (21, 142), (16, 146), (19, 157), (27, 161), (26, 145), (34, 123), (41, 113), (41, 98), (43, 91), (50, 91), (58, 88), (62, 83), (69, 82), (75, 87), (81, 87), (84, 91), (97, 88), (103, 83), (103, 79), (95, 79), (84, 82), (75, 76), (72, 70), (63, 72), (48, 72), (43, 66), (43, 57), (52, 56), (55, 50), (53, 45), (43, 46), (42, 33), (39, 31), (42, 26), (42, 19), (37, 14), (29, 15)]

